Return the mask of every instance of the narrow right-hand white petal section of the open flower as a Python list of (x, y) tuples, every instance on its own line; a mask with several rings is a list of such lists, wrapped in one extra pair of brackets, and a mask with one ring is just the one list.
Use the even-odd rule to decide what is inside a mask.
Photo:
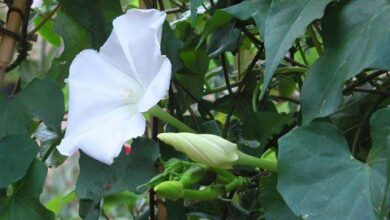
[(146, 112), (156, 105), (167, 94), (171, 80), (172, 65), (169, 59), (162, 57), (162, 64), (157, 76), (146, 88), (146, 91), (138, 103), (138, 111)]

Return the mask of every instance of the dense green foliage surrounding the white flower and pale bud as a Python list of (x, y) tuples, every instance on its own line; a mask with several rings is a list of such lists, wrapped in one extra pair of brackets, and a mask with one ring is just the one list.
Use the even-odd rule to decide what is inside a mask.
[[(70, 63), (99, 49), (112, 20), (140, 5), (43, 2), (30, 24), (43, 24), (37, 34), (63, 51), (29, 56), (5, 77), (0, 220), (78, 219), (61, 212), (74, 201), (85, 219), (389, 219), (389, 0), (145, 0), (141, 7), (168, 14), (161, 51), (173, 71), (160, 106), (252, 156), (276, 152), (278, 172), (194, 163), (156, 138), (177, 130), (149, 117), (145, 136), (113, 165), (81, 153), (75, 188), (47, 203), (48, 168), (66, 161), (55, 147)], [(187, 194), (155, 196), (153, 187), (169, 180)]]

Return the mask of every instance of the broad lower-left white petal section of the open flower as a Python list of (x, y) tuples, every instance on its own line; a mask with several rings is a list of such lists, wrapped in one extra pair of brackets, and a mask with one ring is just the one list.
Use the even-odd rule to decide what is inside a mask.
[[(68, 83), (68, 125), (61, 153), (71, 155), (80, 148), (108, 163), (126, 140), (143, 133), (145, 122), (135, 105), (143, 94), (141, 86), (96, 51), (85, 50), (73, 60)], [(135, 129), (127, 129), (133, 122), (138, 123)], [(104, 149), (107, 157), (95, 148)]]

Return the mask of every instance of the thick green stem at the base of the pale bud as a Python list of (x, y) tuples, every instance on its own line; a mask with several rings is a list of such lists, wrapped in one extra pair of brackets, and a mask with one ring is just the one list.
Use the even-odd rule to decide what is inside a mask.
[(238, 156), (239, 159), (236, 162), (237, 165), (246, 165), (246, 166), (266, 169), (275, 173), (278, 172), (278, 164), (276, 161), (256, 158), (251, 155), (245, 154), (241, 151), (238, 152)]

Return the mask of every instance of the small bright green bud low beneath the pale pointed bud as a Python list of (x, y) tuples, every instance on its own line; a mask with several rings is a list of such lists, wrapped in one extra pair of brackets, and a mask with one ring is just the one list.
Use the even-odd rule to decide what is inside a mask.
[(184, 195), (184, 187), (178, 181), (165, 181), (154, 187), (154, 191), (169, 200), (178, 200)]

